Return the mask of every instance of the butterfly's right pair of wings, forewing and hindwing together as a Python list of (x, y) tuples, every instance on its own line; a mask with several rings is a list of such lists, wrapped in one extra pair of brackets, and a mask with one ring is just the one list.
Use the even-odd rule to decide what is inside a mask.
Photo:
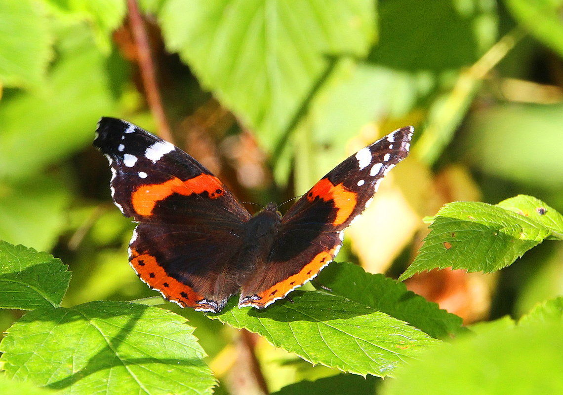
[(409, 153), (412, 126), (350, 156), (282, 219), (269, 260), (243, 285), (239, 306), (264, 308), (314, 278), (342, 245), (343, 230), (365, 210), (379, 183)]

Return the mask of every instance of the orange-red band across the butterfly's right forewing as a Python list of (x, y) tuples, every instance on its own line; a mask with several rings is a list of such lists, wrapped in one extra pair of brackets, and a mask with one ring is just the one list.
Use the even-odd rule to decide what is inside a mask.
[(342, 184), (332, 185), (328, 178), (320, 180), (307, 193), (307, 199), (310, 202), (317, 197), (325, 202), (334, 201), (334, 206), (337, 208), (336, 218), (332, 223), (334, 226), (345, 223), (358, 203), (354, 192), (346, 189)]

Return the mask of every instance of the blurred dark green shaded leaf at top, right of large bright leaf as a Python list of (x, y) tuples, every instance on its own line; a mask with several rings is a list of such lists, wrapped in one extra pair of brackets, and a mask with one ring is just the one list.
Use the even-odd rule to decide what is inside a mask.
[(396, 70), (470, 66), (497, 38), (492, 0), (442, 0), (424, 6), (418, 0), (388, 0), (381, 3), (380, 19), (381, 39), (369, 58)]

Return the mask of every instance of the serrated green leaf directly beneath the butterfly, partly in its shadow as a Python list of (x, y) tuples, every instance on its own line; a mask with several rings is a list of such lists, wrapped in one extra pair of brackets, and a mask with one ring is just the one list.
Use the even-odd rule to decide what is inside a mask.
[(294, 291), (265, 310), (236, 308), (208, 315), (265, 337), (275, 347), (339, 370), (390, 376), (438, 341), (381, 311), (321, 291)]

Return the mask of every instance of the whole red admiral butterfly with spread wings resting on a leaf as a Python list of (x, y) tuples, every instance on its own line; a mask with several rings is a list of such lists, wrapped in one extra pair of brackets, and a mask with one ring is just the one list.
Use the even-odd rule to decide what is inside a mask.
[(314, 278), (342, 245), (379, 182), (409, 153), (412, 126), (347, 158), (282, 217), (252, 216), (225, 185), (173, 144), (129, 122), (102, 118), (94, 146), (108, 158), (111, 197), (138, 222), (129, 262), (152, 289), (195, 310), (265, 308)]

